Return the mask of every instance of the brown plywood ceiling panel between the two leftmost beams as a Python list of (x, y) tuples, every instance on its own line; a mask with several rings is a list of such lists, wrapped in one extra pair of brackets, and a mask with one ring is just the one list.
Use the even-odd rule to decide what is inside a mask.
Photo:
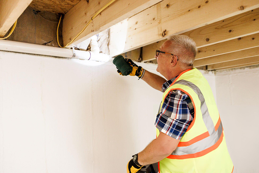
[(33, 0), (29, 7), (39, 11), (66, 14), (68, 10), (74, 7), (81, 0)]

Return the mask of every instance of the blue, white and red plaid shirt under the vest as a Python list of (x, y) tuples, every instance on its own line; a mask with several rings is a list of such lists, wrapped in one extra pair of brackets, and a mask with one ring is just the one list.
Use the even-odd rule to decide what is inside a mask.
[[(165, 82), (162, 92), (177, 78)], [(161, 111), (157, 114), (155, 126), (160, 132), (180, 140), (193, 121), (194, 107), (190, 97), (180, 90), (172, 90), (165, 97)]]

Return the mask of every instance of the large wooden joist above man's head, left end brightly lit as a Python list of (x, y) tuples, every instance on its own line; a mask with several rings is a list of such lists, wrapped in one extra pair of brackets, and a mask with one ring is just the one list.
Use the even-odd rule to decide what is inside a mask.
[[(111, 27), (111, 37), (119, 37), (119, 41), (110, 44), (115, 44), (112, 47), (118, 44), (123, 48), (111, 50), (111, 55), (146, 46), (168, 35), (191, 31), (258, 7), (258, 0), (164, 0), (123, 21), (126, 24), (119, 23)], [(121, 27), (125, 28), (118, 30)], [(123, 32), (125, 30), (126, 33)]]

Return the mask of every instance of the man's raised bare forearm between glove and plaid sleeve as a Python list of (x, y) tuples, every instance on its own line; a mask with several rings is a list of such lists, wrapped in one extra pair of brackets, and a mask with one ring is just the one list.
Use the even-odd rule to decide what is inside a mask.
[(145, 74), (142, 77), (142, 80), (144, 80), (151, 87), (159, 91), (161, 91), (163, 83), (166, 82), (166, 80), (161, 76), (148, 72), (147, 70), (145, 71)]

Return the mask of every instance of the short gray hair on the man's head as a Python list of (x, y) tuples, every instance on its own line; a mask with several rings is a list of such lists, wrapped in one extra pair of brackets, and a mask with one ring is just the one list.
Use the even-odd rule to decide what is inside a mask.
[(180, 66), (182, 68), (193, 67), (197, 55), (197, 47), (193, 39), (186, 35), (170, 35), (168, 40), (171, 41), (168, 49), (170, 53), (178, 57), (178, 61), (181, 62)]

